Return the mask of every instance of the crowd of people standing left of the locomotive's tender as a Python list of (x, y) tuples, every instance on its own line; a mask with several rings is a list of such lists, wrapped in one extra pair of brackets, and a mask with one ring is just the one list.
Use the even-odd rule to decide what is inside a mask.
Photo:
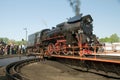
[(23, 54), (25, 53), (24, 45), (5, 44), (0, 42), (0, 55)]

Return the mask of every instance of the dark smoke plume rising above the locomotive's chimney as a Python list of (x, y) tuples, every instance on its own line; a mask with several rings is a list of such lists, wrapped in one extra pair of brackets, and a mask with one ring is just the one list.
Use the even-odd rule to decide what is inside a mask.
[(70, 6), (72, 7), (75, 15), (80, 14), (80, 0), (68, 0), (70, 2)]

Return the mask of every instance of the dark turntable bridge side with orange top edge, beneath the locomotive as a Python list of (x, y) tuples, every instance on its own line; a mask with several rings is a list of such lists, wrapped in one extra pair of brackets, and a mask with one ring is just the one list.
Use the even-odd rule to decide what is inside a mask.
[(55, 60), (70, 67), (100, 74), (106, 77), (120, 79), (120, 61), (76, 56), (51, 55)]

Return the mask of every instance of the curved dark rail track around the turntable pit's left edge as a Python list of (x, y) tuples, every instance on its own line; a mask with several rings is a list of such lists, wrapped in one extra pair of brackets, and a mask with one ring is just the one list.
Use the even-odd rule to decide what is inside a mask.
[(6, 67), (6, 77), (8, 80), (28, 80), (24, 75), (20, 74), (20, 69), (30, 63), (38, 62), (38, 58), (26, 59), (9, 64)]

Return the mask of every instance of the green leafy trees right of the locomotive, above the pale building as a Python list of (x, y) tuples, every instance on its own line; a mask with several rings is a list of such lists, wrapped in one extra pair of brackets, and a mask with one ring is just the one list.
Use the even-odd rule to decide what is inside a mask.
[(101, 38), (100, 42), (119, 42), (120, 38), (118, 37), (117, 34), (112, 34), (110, 37), (105, 37), (105, 38)]

